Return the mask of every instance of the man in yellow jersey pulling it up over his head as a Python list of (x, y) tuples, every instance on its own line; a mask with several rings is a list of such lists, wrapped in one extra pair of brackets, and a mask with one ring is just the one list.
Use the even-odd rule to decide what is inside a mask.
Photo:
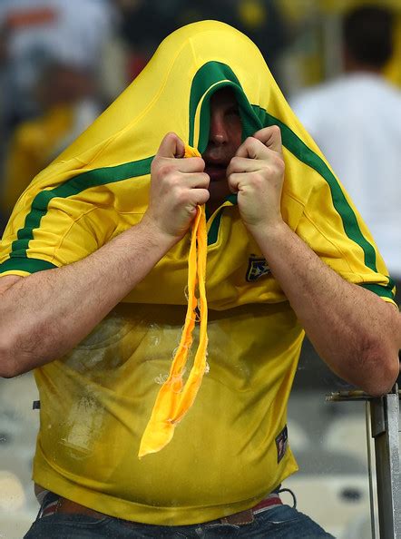
[[(185, 316), (203, 204), (209, 372), (177, 417), (153, 404), (190, 348), (184, 319), (183, 334), (196, 312), (204, 328), (201, 271)], [(212, 21), (171, 34), (25, 191), (0, 261), (0, 374), (35, 368), (41, 397), (34, 481), (50, 494), (27, 537), (329, 536), (278, 497), (297, 470), (286, 406), (304, 329), (381, 395), (401, 321), (368, 230), (248, 38)], [(181, 391), (184, 374), (161, 387), (171, 402), (203, 373)], [(152, 407), (175, 433), (138, 459)]]

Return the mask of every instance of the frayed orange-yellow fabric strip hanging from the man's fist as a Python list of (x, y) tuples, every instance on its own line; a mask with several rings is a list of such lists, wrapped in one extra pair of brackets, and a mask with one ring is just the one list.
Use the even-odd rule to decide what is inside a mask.
[[(200, 153), (190, 147), (185, 157), (199, 157)], [(208, 304), (206, 300), (205, 276), (207, 255), (207, 230), (204, 206), (198, 206), (191, 230), (191, 247), (188, 261), (188, 309), (182, 329), (180, 345), (172, 360), (169, 377), (161, 386), (152, 409), (151, 418), (143, 432), (138, 456), (156, 453), (171, 441), (175, 426), (191, 408), (201, 387), (207, 368), (207, 324)], [(198, 285), (199, 301), (196, 297)], [(199, 305), (198, 305), (199, 303)], [(200, 338), (190, 375), (183, 386), (182, 376), (192, 344), (196, 312), (199, 307)]]

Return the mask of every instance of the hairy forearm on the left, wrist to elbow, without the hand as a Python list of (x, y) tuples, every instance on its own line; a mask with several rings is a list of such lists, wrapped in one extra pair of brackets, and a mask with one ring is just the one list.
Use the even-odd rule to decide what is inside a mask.
[(15, 376), (71, 350), (171, 245), (140, 223), (83, 260), (15, 282), (1, 296), (0, 375)]

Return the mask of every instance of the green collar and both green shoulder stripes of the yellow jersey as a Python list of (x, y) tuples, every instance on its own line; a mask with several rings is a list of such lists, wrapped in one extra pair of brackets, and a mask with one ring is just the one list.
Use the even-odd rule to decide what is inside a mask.
[[(232, 87), (236, 93), (243, 125), (243, 139), (263, 126), (279, 125), (283, 145), (289, 152), (293, 153), (301, 162), (304, 162), (315, 171), (318, 171), (322, 178), (328, 182), (333, 205), (343, 221), (347, 237), (350, 240), (355, 241), (364, 251), (365, 264), (367, 267), (377, 272), (375, 248), (363, 236), (357, 224), (357, 217), (349, 206), (343, 191), (334, 174), (329, 170), (327, 164), (315, 152), (310, 150), (305, 142), (302, 142), (296, 133), (286, 124), (280, 122), (279, 119), (274, 116), (271, 116), (267, 111), (259, 107), (259, 105), (250, 105), (237, 76), (227, 64), (208, 62), (201, 66), (193, 78), (189, 110), (190, 144), (192, 146), (194, 145), (195, 115), (198, 105), (203, 98), (200, 112), (200, 138), (197, 145), (200, 152), (204, 152), (206, 149), (210, 129), (210, 96), (218, 88), (224, 86)], [(34, 229), (39, 228), (40, 222), (53, 198), (67, 198), (91, 187), (149, 174), (153, 157), (154, 156), (148, 157), (137, 162), (127, 162), (113, 167), (103, 167), (93, 171), (86, 171), (74, 176), (71, 180), (65, 181), (62, 185), (59, 185), (52, 190), (39, 192), (34, 197), (32, 209), (26, 216), (24, 228), (17, 232), (17, 240), (12, 244), (12, 250), (9, 255), (10, 259), (19, 259), (19, 264), (21, 264), (22, 259), (24, 258), (30, 260), (26, 255), (29, 241), (33, 240)], [(233, 197), (232, 202), (235, 203), (235, 201), (236, 199)], [(218, 238), (220, 220), (221, 211), (216, 215), (216, 218), (210, 227), (208, 245), (215, 243)], [(11, 262), (9, 262), (9, 264), (11, 264)], [(1, 270), (5, 271), (3, 268), (4, 265), (1, 266)], [(389, 279), (387, 289), (391, 286), (390, 280), (391, 279)], [(383, 287), (380, 287), (380, 289), (383, 289)]]

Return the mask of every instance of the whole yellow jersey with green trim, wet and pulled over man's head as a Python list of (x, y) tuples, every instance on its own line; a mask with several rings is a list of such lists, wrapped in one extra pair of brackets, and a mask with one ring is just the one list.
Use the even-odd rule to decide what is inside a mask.
[[(214, 21), (171, 34), (111, 107), (34, 179), (5, 230), (1, 273), (73, 263), (138, 223), (162, 137), (176, 132), (203, 152), (210, 96), (226, 86), (240, 105), (243, 138), (263, 126), (281, 128), (281, 211), (289, 227), (344, 279), (392, 301), (367, 227), (258, 49)], [(190, 234), (79, 346), (35, 370), (37, 484), (108, 515), (193, 524), (255, 505), (297, 470), (286, 409), (303, 330), (234, 196), (209, 217), (207, 231), (210, 372), (171, 443), (138, 459), (181, 338)]]

